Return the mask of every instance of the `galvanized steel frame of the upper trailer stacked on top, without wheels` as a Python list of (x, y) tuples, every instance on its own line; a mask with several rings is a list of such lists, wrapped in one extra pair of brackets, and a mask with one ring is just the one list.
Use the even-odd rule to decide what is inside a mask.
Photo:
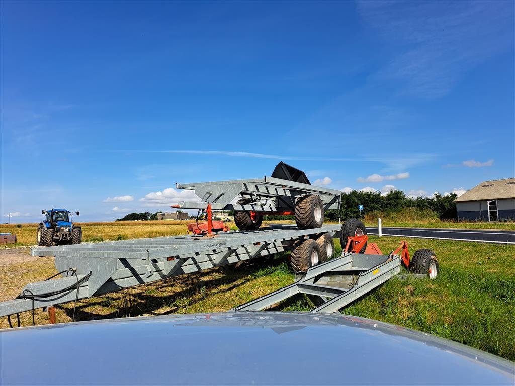
[[(246, 210), (249, 212), (283, 213), (295, 207), (296, 198), (308, 194), (318, 195), (324, 209), (339, 209), (341, 191), (287, 181), (273, 177), (176, 184), (178, 189), (194, 190), (201, 202), (182, 201), (174, 207), (214, 210)], [(236, 198), (250, 199), (250, 203), (235, 203)]]

